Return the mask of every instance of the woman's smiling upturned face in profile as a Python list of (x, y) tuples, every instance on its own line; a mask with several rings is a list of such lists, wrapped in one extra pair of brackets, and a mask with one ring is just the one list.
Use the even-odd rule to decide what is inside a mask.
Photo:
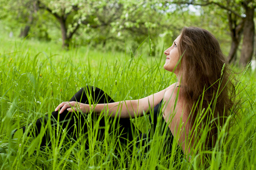
[(174, 44), (172, 44), (172, 46), (164, 51), (164, 54), (166, 54), (166, 63), (164, 64), (164, 69), (166, 69), (167, 71), (171, 71), (175, 74), (179, 73), (179, 69), (177, 67), (180, 59), (180, 55), (177, 49), (179, 43), (180, 35), (177, 37), (177, 39), (174, 40)]

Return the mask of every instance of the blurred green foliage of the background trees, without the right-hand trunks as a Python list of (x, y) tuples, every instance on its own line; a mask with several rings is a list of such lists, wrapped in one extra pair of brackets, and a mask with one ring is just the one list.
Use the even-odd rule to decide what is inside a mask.
[[(6, 1), (1, 10), (5, 32), (19, 36), (20, 28), (30, 25), (26, 39), (60, 42), (61, 27), (56, 16), (65, 18), (67, 36), (77, 25), (72, 46), (102, 47), (107, 50), (135, 51), (148, 37), (151, 55), (155, 56), (174, 40), (184, 26), (208, 29), (229, 52), (230, 37), (223, 10), (216, 6), (197, 7), (159, 1)], [(232, 5), (230, 5), (232, 6)], [(30, 20), (30, 15), (33, 18)], [(221, 18), (221, 19), (220, 19)], [(148, 48), (145, 50), (148, 53)]]

